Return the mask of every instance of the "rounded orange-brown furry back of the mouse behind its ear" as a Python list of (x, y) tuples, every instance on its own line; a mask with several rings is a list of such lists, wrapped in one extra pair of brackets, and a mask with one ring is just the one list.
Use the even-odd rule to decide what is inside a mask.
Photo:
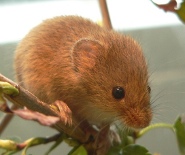
[[(47, 90), (54, 87), (57, 79), (53, 78), (69, 83), (70, 79), (75, 81), (72, 48), (79, 39), (92, 38), (90, 34), (96, 29), (100, 27), (76, 16), (55, 17), (33, 28), (16, 49), (14, 66), (20, 85), (43, 101), (52, 102)], [(62, 85), (66, 85), (65, 82)], [(46, 92), (47, 96), (41, 92)]]

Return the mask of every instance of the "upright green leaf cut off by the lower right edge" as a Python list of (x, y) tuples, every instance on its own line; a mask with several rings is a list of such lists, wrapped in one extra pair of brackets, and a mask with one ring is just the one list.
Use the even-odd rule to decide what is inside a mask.
[(185, 118), (178, 117), (174, 124), (179, 150), (182, 155), (185, 154), (185, 122), (183, 119)]

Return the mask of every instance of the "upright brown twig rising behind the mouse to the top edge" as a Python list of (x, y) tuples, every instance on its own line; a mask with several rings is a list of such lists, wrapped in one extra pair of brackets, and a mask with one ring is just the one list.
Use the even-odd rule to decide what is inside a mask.
[(103, 18), (103, 26), (106, 27), (107, 29), (112, 29), (112, 24), (111, 24), (106, 0), (99, 0), (99, 5), (102, 13), (102, 18)]

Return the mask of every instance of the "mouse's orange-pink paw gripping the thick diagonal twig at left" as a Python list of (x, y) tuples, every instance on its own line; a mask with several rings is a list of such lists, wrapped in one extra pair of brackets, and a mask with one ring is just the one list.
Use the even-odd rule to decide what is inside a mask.
[(60, 113), (60, 119), (65, 124), (72, 125), (72, 112), (66, 103), (61, 100), (56, 100), (50, 107)]

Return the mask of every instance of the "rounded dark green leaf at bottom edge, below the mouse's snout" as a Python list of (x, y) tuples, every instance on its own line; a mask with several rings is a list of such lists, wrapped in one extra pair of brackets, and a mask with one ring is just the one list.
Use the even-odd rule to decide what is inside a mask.
[(131, 144), (123, 149), (123, 155), (151, 155), (151, 154), (143, 146)]

